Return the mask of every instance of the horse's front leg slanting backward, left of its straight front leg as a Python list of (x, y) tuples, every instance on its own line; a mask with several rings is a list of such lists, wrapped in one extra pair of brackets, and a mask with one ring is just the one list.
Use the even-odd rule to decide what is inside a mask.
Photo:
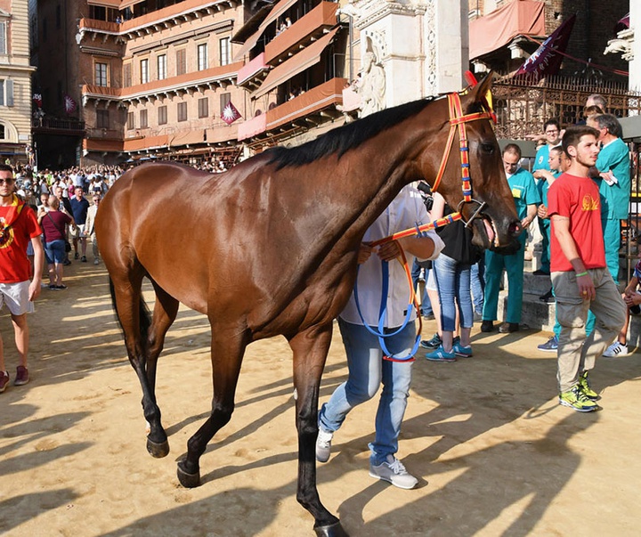
[(212, 324), (211, 362), (214, 380), (212, 411), (187, 442), (187, 456), (178, 463), (178, 480), (188, 488), (200, 484), (200, 456), (215, 433), (231, 419), (234, 395), (245, 348), (249, 342), (241, 327), (223, 329)]

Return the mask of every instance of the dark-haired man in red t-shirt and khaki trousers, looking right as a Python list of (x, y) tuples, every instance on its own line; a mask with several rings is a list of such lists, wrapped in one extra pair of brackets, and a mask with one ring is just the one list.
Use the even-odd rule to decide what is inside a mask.
[[(565, 131), (563, 149), (572, 164), (548, 191), (550, 271), (561, 324), (559, 403), (580, 412), (598, 409), (599, 395), (589, 385), (588, 371), (616, 338), (626, 311), (605, 264), (599, 191), (588, 176), (599, 152), (597, 136), (589, 126)], [(586, 339), (588, 311), (595, 314), (596, 326)]]

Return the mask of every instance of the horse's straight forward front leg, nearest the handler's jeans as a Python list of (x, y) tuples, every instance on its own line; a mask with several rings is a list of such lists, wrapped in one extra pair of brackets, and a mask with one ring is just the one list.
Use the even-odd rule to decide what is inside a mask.
[(316, 436), (321, 375), (331, 342), (332, 324), (313, 327), (289, 340), (294, 351), (296, 429), (298, 430), (298, 486), (296, 500), (314, 517), (319, 537), (345, 537), (337, 517), (325, 509), (316, 488)]

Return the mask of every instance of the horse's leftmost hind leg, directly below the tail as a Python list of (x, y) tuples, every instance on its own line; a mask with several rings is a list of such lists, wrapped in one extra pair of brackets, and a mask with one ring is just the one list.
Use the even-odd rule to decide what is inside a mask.
[(147, 450), (154, 457), (164, 457), (169, 452), (165, 429), (160, 422), (160, 409), (156, 395), (147, 376), (149, 354), (149, 312), (142, 301), (144, 269), (138, 263), (125, 267), (110, 267), (113, 299), (120, 326), (125, 334), (125, 346), (142, 387), (142, 411), (150, 426)]

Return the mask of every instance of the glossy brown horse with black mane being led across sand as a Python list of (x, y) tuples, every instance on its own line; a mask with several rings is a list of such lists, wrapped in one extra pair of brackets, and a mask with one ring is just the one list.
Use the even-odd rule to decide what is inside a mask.
[[(490, 79), (461, 97), (462, 111), (483, 111)], [(126, 349), (142, 385), (150, 423), (147, 447), (169, 451), (154, 394), (156, 366), (179, 301), (211, 325), (214, 400), (178, 464), (184, 486), (199, 484), (199, 459), (230, 419), (246, 346), (282, 334), (294, 353), (298, 431), (297, 500), (318, 535), (345, 535), (319, 499), (314, 443), (321, 373), (332, 320), (353, 289), (363, 233), (402, 186), (434, 182), (451, 207), (461, 201), (458, 146), (445, 150), (447, 99), (410, 102), (337, 128), (296, 148), (265, 151), (223, 175), (158, 163), (123, 175), (96, 219)], [(521, 231), (499, 145), (487, 118), (467, 123), (474, 198), (484, 203), (475, 240), (513, 245)], [(471, 216), (479, 204), (464, 204)], [(149, 321), (142, 279), (156, 293)]]

